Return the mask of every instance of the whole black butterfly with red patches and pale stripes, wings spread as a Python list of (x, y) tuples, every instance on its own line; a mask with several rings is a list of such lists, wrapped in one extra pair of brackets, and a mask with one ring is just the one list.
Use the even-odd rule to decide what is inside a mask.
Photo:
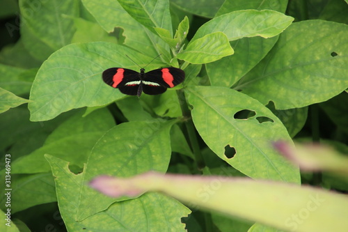
[(103, 72), (102, 78), (121, 93), (140, 97), (143, 92), (157, 95), (177, 86), (184, 81), (185, 72), (180, 68), (159, 68), (150, 72), (145, 72), (144, 68), (140, 72), (127, 68), (109, 68)]

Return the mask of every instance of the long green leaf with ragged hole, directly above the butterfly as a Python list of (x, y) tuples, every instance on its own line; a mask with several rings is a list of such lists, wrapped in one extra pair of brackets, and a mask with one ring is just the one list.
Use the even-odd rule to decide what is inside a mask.
[(122, 36), (125, 36), (125, 45), (152, 57), (166, 54), (163, 50), (163, 47), (166, 47), (165, 43), (155, 33), (134, 20), (117, 0), (82, 2), (105, 31), (112, 32), (116, 27), (120, 27), (123, 30)]

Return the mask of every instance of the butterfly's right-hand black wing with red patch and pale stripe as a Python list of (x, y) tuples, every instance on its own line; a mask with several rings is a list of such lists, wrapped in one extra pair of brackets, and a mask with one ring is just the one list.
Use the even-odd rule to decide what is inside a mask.
[(177, 86), (185, 79), (180, 68), (159, 68), (146, 72), (143, 77), (143, 92), (149, 95), (164, 93), (167, 88)]

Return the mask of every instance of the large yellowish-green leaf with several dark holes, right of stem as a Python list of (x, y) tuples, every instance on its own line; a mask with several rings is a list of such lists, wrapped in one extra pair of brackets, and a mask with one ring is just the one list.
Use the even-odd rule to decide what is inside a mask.
[[(254, 100), (230, 88), (196, 86), (187, 88), (193, 106), (193, 123), (207, 146), (222, 160), (251, 178), (267, 178), (299, 183), (299, 170), (276, 153), (271, 141), (291, 141), (280, 120)], [(254, 116), (239, 119), (237, 113)], [(267, 119), (268, 121), (264, 121)], [(226, 147), (235, 148), (233, 157)]]

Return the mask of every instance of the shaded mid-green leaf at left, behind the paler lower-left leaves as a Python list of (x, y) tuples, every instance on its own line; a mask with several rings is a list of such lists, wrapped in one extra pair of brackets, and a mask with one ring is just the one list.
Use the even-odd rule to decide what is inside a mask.
[(83, 167), (95, 142), (115, 123), (107, 109), (94, 111), (82, 117), (75, 114), (47, 137), (44, 146), (12, 163), (13, 173), (40, 173), (49, 171), (45, 154), (63, 157), (70, 164)]

